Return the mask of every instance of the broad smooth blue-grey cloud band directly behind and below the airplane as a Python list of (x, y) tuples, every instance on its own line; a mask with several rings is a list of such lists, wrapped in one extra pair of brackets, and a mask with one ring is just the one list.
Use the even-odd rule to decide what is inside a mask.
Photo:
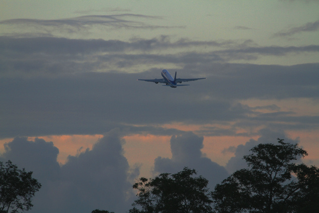
[[(203, 68), (207, 79), (191, 82), (183, 90), (136, 81), (137, 78), (160, 77), (160, 68), (135, 74), (91, 72), (60, 74), (55, 78), (2, 77), (0, 136), (101, 134), (115, 127), (129, 128), (135, 124), (145, 125), (145, 130), (150, 130), (147, 126), (167, 122), (235, 122), (232, 124), (235, 129), (202, 129), (201, 134), (205, 135), (233, 135), (237, 127), (248, 128), (249, 125), (313, 129), (319, 125), (318, 116), (300, 116), (273, 105), (251, 108), (237, 101), (318, 99), (318, 69), (319, 64), (212, 64)], [(178, 77), (196, 77), (189, 71), (171, 70), (174, 71)], [(199, 70), (194, 72), (199, 73)], [(265, 114), (258, 112), (261, 109), (273, 111)], [(131, 130), (141, 132), (141, 127)]]

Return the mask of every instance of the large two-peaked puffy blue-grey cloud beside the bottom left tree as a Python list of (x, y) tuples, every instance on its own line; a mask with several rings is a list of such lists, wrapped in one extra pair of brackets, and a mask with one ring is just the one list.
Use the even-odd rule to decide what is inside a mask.
[(92, 150), (69, 156), (59, 166), (58, 149), (41, 139), (15, 138), (5, 145), (1, 159), (33, 171), (42, 184), (32, 212), (87, 213), (94, 209), (125, 212), (135, 200), (132, 180), (139, 168), (130, 168), (123, 156), (125, 143), (118, 130), (104, 135)]

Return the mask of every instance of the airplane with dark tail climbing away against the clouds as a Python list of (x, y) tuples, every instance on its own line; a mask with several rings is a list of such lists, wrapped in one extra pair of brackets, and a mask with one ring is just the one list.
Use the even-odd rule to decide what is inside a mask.
[(162, 86), (170, 86), (171, 88), (176, 88), (177, 86), (189, 86), (189, 84), (177, 85), (177, 83), (181, 83), (183, 81), (186, 82), (186, 81), (196, 81), (200, 79), (206, 79), (206, 78), (176, 78), (176, 72), (175, 72), (175, 77), (173, 78), (173, 76), (171, 76), (166, 69), (163, 69), (160, 74), (163, 77), (161, 79), (137, 79), (137, 80), (154, 82), (156, 84), (163, 83), (166, 85), (162, 85)]

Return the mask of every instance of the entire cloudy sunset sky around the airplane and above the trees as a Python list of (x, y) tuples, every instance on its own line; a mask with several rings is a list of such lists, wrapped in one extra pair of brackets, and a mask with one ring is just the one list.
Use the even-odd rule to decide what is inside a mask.
[[(209, 187), (259, 143), (319, 165), (318, 0), (0, 0), (0, 160), (30, 213), (128, 212), (140, 177)], [(170, 88), (136, 79), (200, 78)]]

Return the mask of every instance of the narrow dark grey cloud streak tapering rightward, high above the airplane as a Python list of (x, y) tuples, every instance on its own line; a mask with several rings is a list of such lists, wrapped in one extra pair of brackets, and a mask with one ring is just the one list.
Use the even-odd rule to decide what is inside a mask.
[[(152, 39), (132, 38), (130, 41), (103, 40), (103, 39), (69, 39), (56, 37), (8, 37), (0, 36), (1, 53), (4, 55), (14, 54), (48, 54), (69, 55), (74, 57), (79, 55), (90, 55), (98, 53), (114, 53), (125, 51), (151, 51), (168, 48), (189, 48), (189, 47), (232, 47), (247, 46), (252, 41), (193, 41), (185, 38), (171, 41), (167, 35), (161, 35)], [(138, 54), (137, 54), (138, 55)]]

